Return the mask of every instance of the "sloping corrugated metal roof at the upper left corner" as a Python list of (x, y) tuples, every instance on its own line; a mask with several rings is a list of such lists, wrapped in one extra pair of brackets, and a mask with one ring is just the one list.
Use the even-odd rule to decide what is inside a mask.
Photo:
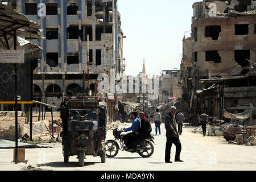
[(26, 15), (18, 13), (13, 6), (0, 4), (0, 37), (13, 35), (15, 29), (17, 36), (41, 39), (36, 22), (28, 19)]

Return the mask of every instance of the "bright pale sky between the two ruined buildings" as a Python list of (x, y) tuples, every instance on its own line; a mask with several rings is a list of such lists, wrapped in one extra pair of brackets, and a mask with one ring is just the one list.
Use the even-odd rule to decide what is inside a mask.
[(159, 75), (162, 70), (180, 69), (182, 39), (191, 34), (192, 5), (195, 0), (118, 0), (126, 75), (146, 72)]

